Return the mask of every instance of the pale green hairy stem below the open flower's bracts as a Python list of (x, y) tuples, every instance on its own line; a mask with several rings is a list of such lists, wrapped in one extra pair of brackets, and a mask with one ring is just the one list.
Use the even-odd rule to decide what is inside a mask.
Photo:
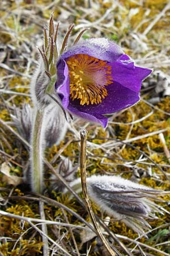
[(43, 150), (44, 150), (44, 109), (36, 109), (31, 137), (31, 188), (33, 192), (41, 193), (43, 183)]

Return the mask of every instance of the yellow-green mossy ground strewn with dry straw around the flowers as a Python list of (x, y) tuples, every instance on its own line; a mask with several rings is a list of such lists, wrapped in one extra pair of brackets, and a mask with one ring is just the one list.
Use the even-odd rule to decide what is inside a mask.
[[(0, 174), (1, 210), (7, 213), (0, 215), (0, 254), (43, 255), (43, 250), (47, 249), (49, 255), (107, 255), (96, 236), (88, 241), (86, 234), (87, 241), (83, 242), (82, 228), (87, 227), (90, 217), (80, 204), (81, 200), (70, 199), (62, 192), (52, 190), (48, 167), (45, 167), (43, 196), (31, 193), (27, 184), (14, 185), (18, 177), (23, 177), (25, 171), (29, 172), (29, 152), (28, 145), (12, 126), (11, 115), (23, 104), (31, 104), (29, 83), (39, 58), (36, 46), (42, 44), (43, 27), (47, 26), (52, 12), (54, 21), (60, 21), (61, 39), (70, 23), (75, 24), (73, 39), (79, 30), (88, 27), (90, 30), (83, 35), (84, 39), (104, 36), (115, 40), (137, 64), (153, 68), (154, 72), (142, 87), (141, 101), (128, 110), (114, 113), (106, 130), (74, 119), (64, 141), (46, 148), (45, 157), (53, 163), (54, 169), (59, 166), (61, 155), (69, 158), (75, 177), (79, 177), (79, 131), (86, 127), (88, 176), (121, 175), (167, 191), (158, 198), (163, 214), (158, 213), (156, 221), (148, 220), (151, 225), (148, 238), (138, 237), (125, 224), (112, 218), (108, 228), (118, 234), (118, 240), (132, 251), (132, 255), (169, 255), (170, 99), (164, 89), (158, 92), (159, 75), (156, 73), (162, 71), (164, 80), (169, 79), (168, 0), (2, 0), (0, 163), (3, 169), (8, 168), (9, 175)], [(153, 98), (156, 99), (154, 103)], [(11, 177), (14, 178), (13, 183)], [(55, 182), (61, 181), (56, 179)], [(81, 199), (82, 195), (79, 196)], [(40, 199), (44, 203), (43, 213)], [(92, 207), (101, 220), (108, 217), (93, 203)], [(45, 228), (41, 225), (42, 217), (46, 220)], [(63, 225), (54, 225), (50, 221)], [(46, 239), (42, 239), (44, 234)], [(128, 255), (120, 243), (113, 241), (108, 234), (105, 236), (120, 251), (119, 255)]]

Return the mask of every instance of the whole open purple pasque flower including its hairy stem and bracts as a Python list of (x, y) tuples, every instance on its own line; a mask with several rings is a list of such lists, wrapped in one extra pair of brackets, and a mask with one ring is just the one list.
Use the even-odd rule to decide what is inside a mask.
[[(61, 131), (58, 141), (63, 135), (65, 110), (105, 127), (108, 122), (105, 114), (125, 109), (139, 101), (142, 80), (151, 73), (150, 69), (135, 67), (130, 57), (107, 39), (79, 42), (86, 29), (80, 31), (73, 46), (66, 50), (73, 24), (70, 24), (59, 49), (58, 27), (59, 23), (54, 27), (52, 15), (49, 29), (44, 28), (39, 65), (31, 81), (33, 118), (30, 159), (32, 191), (35, 192), (42, 192), (44, 188), (43, 152), (45, 141), (46, 144), (48, 142), (46, 133), (55, 126), (54, 115), (61, 119), (58, 122)], [(58, 108), (55, 110), (56, 103)], [(23, 130), (27, 131), (25, 124)], [(52, 133), (55, 131), (53, 129)]]

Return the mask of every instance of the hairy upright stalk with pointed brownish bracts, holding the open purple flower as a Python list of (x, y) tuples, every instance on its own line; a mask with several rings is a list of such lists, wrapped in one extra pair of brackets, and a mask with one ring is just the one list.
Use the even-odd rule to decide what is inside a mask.
[[(37, 193), (41, 193), (44, 188), (43, 156), (45, 147), (45, 128), (48, 127), (48, 123), (45, 119), (47, 117), (50, 103), (52, 102), (52, 99), (54, 100), (52, 94), (54, 92), (54, 84), (57, 79), (56, 63), (58, 59), (58, 26), (59, 23), (57, 24), (56, 29), (54, 29), (53, 15), (51, 15), (49, 29), (46, 30), (46, 28), (44, 28), (44, 44), (42, 45), (42, 48), (39, 49), (39, 66), (37, 67), (37, 71), (35, 72), (35, 75), (33, 75), (31, 82), (32, 101), (33, 105), (35, 106), (35, 113), (33, 113), (33, 116), (35, 118), (33, 119), (32, 125), (30, 154), (31, 188), (33, 192)], [(67, 31), (65, 38), (63, 39), (61, 53), (65, 50), (67, 46), (67, 41), (69, 39), (71, 31), (73, 30), (73, 27), (73, 24), (69, 26), (69, 30)], [(83, 34), (84, 31), (86, 30), (80, 32), (78, 38), (75, 40), (75, 43), (78, 42), (80, 36)], [(58, 101), (57, 103), (62, 108)], [(63, 113), (65, 113), (65, 110), (63, 110)], [(57, 115), (57, 117), (62, 118), (62, 115), (61, 117)], [(66, 126), (63, 127), (63, 132), (62, 129), (59, 129), (60, 123), (61, 125), (64, 125), (63, 122), (58, 122), (58, 138), (62, 138), (66, 131)], [(54, 129), (52, 132), (54, 133)], [(57, 141), (59, 140), (57, 139)]]

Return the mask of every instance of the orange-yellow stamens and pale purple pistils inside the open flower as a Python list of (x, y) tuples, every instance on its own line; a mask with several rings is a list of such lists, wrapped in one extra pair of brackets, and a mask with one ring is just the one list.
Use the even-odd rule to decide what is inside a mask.
[(111, 66), (107, 61), (86, 54), (77, 54), (66, 60), (69, 68), (70, 97), (80, 105), (99, 104), (108, 95), (105, 86), (113, 83)]

